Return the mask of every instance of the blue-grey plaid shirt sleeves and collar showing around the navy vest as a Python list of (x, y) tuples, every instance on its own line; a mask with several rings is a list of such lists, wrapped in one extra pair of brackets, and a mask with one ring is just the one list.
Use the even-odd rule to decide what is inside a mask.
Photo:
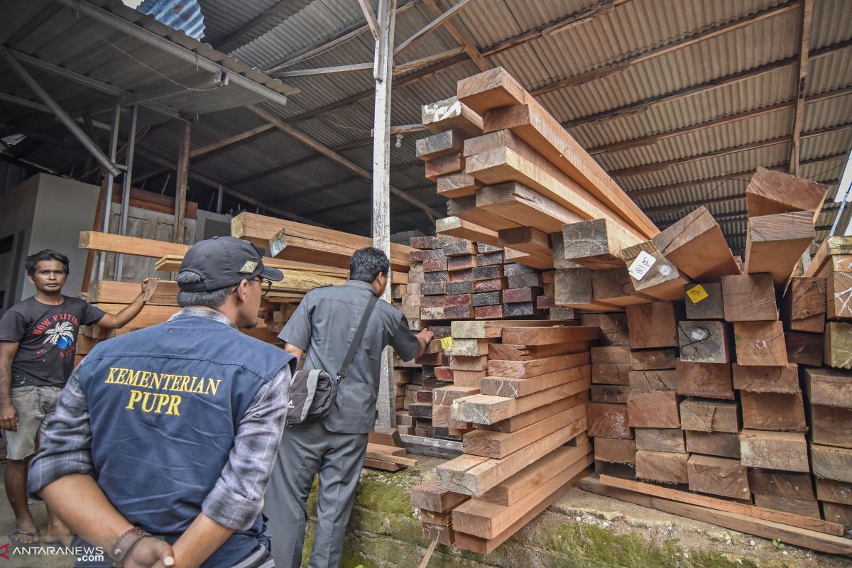
[[(215, 319), (236, 329), (221, 313), (203, 307), (185, 307), (172, 318), (186, 316)], [(222, 475), (201, 506), (204, 514), (220, 525), (235, 531), (248, 529), (263, 507), (263, 494), (284, 429), (290, 383), (290, 366), (285, 365), (257, 391), (239, 421)], [(68, 379), (45, 434), (42, 449), (30, 465), (27, 485), (31, 493), (73, 473), (94, 476), (89, 404), (80, 387), (79, 367)]]

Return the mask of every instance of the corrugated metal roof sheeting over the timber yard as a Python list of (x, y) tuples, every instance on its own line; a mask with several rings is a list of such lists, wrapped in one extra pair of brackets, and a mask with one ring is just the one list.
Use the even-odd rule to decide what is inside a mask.
[[(99, 0), (99, 3), (104, 2), (106, 0)], [(449, 0), (439, 0), (439, 3), (443, 9), (452, 5)], [(239, 3), (239, 9), (228, 0), (199, 0), (199, 4), (207, 25), (205, 41), (236, 56), (239, 59), (236, 65), (248, 70), (247, 74), (256, 72), (252, 67), (262, 69), (278, 65), (343, 32), (357, 29), (364, 22), (354, 0), (245, 0)], [(376, 2), (372, 5), (375, 9)], [(662, 224), (685, 215), (695, 204), (710, 200), (708, 208), (714, 215), (721, 216), (729, 243), (741, 249), (745, 221), (732, 215), (735, 217), (745, 209), (741, 196), (749, 172), (761, 165), (783, 169), (790, 159), (801, 3), (784, 0), (683, 0), (676, 3), (628, 0), (565, 31), (538, 34), (531, 41), (504, 49), (503, 43), (510, 38), (540, 31), (565, 21), (570, 14), (596, 7), (604, 8), (604, 3), (596, 0), (474, 0), (452, 21), (486, 52), (489, 65), (504, 66), (527, 89), (538, 89), (561, 79), (621, 64), (620, 71), (552, 90), (539, 95), (538, 100), (558, 120), (573, 123), (569, 131), (586, 148), (660, 135), (653, 144), (596, 153), (595, 158), (604, 169), (612, 172), (671, 163), (665, 169), (646, 169), (635, 175), (617, 175), (616, 179), (626, 191), (636, 195), (638, 204), (648, 208), (653, 220)], [(820, 181), (838, 177), (837, 170), (843, 160), (836, 156), (852, 146), (852, 129), (843, 128), (852, 122), (852, 95), (843, 91), (852, 87), (852, 29), (846, 25), (848, 9), (848, 0), (817, 0), (815, 3), (810, 49), (812, 53), (824, 51), (809, 61), (805, 93), (814, 100), (804, 107), (800, 175)], [(0, 19), (0, 40), (26, 29), (28, 23), (39, 18), (50, 27), (64, 17), (66, 15), (57, 10), (50, 13), (32, 5), (24, 6), (10, 13), (8, 21)], [(433, 18), (422, 3), (400, 9), (396, 43)], [(160, 26), (153, 19), (149, 20), (150, 25)], [(740, 25), (742, 22), (745, 23)], [(141, 23), (149, 25), (144, 19)], [(706, 32), (724, 29), (724, 26), (736, 26), (736, 29), (719, 32), (685, 47), (667, 49)], [(26, 42), (28, 49), (39, 55), (59, 57), (62, 54), (61, 46), (52, 45), (55, 36), (36, 34), (33, 37), (32, 33), (20, 32), (17, 35), (17, 42)], [(120, 34), (114, 36), (110, 37), (112, 43), (133, 54), (138, 53), (148, 65), (158, 70), (158, 66), (168, 68), (168, 61), (162, 55), (135, 46)], [(210, 50), (178, 32), (174, 32), (174, 36), (176, 41), (191, 43), (191, 49), (199, 49), (202, 53)], [(129, 80), (128, 84), (145, 78), (144, 73), (130, 73), (130, 79), (124, 79), (121, 74), (124, 55), (117, 54), (115, 49), (105, 50), (102, 42), (91, 34), (78, 33), (74, 39), (76, 44), (68, 49), (69, 64), (72, 60), (80, 61), (77, 65), (84, 72), (103, 68), (111, 80)], [(439, 28), (413, 43), (397, 62), (435, 55), (456, 46), (446, 30)], [(657, 55), (664, 49), (665, 53)], [(494, 53), (488, 55), (491, 51)], [(103, 61), (105, 54), (111, 63)], [(372, 56), (371, 34), (365, 31), (286, 69), (341, 66), (371, 61)], [(774, 65), (776, 62), (783, 65)], [(758, 72), (764, 66), (771, 68)], [(435, 69), (427, 78), (397, 79), (391, 112), (394, 124), (418, 123), (422, 104), (453, 95), (458, 79), (478, 72), (470, 60), (439, 65)], [(718, 83), (723, 77), (738, 74), (739, 80), (713, 86), (713, 82)], [(46, 82), (51, 80), (39, 77)], [(202, 85), (205, 77), (203, 73), (185, 69), (181, 83), (190, 80)], [(341, 150), (343, 156), (370, 169), (371, 72), (291, 77), (286, 81), (302, 92), (291, 96), (284, 108), (261, 104), (262, 108), (331, 148), (348, 148)], [(9, 85), (10, 89), (20, 89), (14, 81)], [(665, 96), (685, 89), (692, 92)], [(825, 94), (831, 96), (822, 96)], [(81, 89), (66, 89), (63, 95), (69, 105), (78, 108), (82, 108), (91, 96)], [(216, 104), (221, 106), (222, 101), (216, 100), (216, 96), (221, 96), (221, 92), (184, 91), (163, 102), (171, 104), (174, 101), (203, 112)], [(768, 107), (772, 110), (763, 112)], [(615, 118), (588, 120), (596, 113), (618, 109), (627, 112)], [(739, 114), (743, 116), (722, 121), (722, 118)], [(151, 115), (147, 112), (146, 116)], [(0, 121), (5, 119), (0, 108)], [(705, 125), (711, 121), (722, 123)], [(203, 113), (193, 127), (193, 147), (205, 146), (261, 123), (255, 115), (238, 108)], [(425, 135), (428, 133), (406, 135), (400, 148), (391, 147), (395, 167), (391, 181), (424, 203), (440, 208), (443, 199), (435, 195), (431, 184), (424, 180), (422, 166), (406, 166), (415, 161), (414, 141)], [(142, 144), (156, 147), (163, 156), (174, 156), (175, 138), (175, 128), (163, 128), (147, 135)], [(356, 141), (363, 143), (350, 146)], [(763, 142), (774, 143), (762, 146)], [(713, 152), (717, 155), (708, 155)], [(312, 158), (312, 153), (287, 135), (268, 132), (200, 160), (193, 164), (193, 169), (224, 183), (244, 180), (236, 184), (240, 191), (268, 200), (270, 204), (287, 207), (325, 224), (366, 232), (369, 227), (363, 227), (366, 221), (362, 220), (369, 219), (371, 213), (368, 182), (357, 179), (339, 164), (325, 158)], [(295, 165), (288, 168), (288, 164)], [(737, 179), (713, 181), (721, 175), (740, 172), (745, 174)], [(668, 186), (675, 188), (665, 190)], [(665, 191), (649, 193), (651, 188)], [(836, 183), (830, 190), (832, 194), (835, 188)], [(391, 203), (394, 231), (420, 229), (428, 233), (434, 228), (429, 227), (423, 213), (412, 210), (411, 205), (396, 199)], [(832, 215), (832, 211), (820, 215), (818, 224), (825, 221), (823, 217), (827, 219)]]

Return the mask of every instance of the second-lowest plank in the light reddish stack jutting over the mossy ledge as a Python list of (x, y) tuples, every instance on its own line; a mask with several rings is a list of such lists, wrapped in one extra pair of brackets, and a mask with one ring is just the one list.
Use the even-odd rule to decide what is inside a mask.
[(508, 529), (529, 509), (570, 481), (576, 475), (573, 462), (561, 462), (558, 473), (533, 488), (533, 491), (521, 497), (515, 504), (506, 507), (495, 503), (471, 499), (463, 502), (452, 511), (452, 526), (455, 531), (467, 535), (494, 538)]

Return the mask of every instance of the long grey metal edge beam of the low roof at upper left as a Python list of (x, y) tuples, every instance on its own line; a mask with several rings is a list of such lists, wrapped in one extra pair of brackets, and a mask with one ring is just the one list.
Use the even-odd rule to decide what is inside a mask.
[[(135, 39), (153, 45), (158, 49), (162, 49), (165, 52), (170, 53), (171, 55), (174, 55), (184, 61), (187, 61), (193, 66), (199, 67), (210, 72), (222, 71), (222, 64), (217, 63), (214, 60), (210, 60), (207, 57), (204, 57), (204, 55), (199, 55), (192, 49), (187, 49), (164, 37), (158, 36), (156, 33), (150, 32), (141, 26), (137, 26), (129, 20), (124, 20), (124, 18), (122, 18), (121, 16), (112, 14), (112, 12), (108, 12), (106, 9), (102, 9), (93, 3), (87, 2), (86, 0), (54, 1), (72, 9), (72, 11), (78, 14), (84, 14), (92, 20), (97, 20), (101, 22), (101, 24), (105, 24), (113, 29), (124, 32), (130, 37), (134, 37)], [(250, 92), (256, 95), (260, 95), (264, 99), (276, 102), (282, 106), (287, 104), (287, 95), (296, 95), (299, 92), (299, 89), (294, 89), (290, 86), (282, 84), (282, 90), (284, 91), (284, 93), (279, 93), (276, 90), (270, 89), (266, 85), (257, 83), (249, 77), (240, 75), (238, 72), (229, 73), (228, 78), (230, 79), (231, 83), (239, 85), (239, 87), (242, 87), (243, 89), (248, 89)]]

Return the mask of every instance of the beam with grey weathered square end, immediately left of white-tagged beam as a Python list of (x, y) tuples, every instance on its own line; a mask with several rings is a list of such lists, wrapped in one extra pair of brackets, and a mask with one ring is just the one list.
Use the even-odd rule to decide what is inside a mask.
[(620, 250), (635, 244), (622, 241), (606, 219), (567, 223), (561, 227), (561, 236), (564, 258), (591, 270), (624, 267)]

